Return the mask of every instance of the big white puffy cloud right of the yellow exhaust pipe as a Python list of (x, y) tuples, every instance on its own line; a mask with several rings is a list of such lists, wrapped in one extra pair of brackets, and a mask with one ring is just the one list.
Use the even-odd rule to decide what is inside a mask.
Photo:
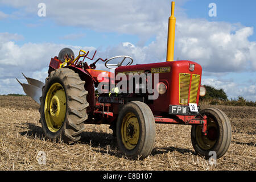
[(255, 42), (248, 40), (253, 27), (185, 19), (177, 23), (177, 32), (176, 55), (196, 60), (205, 71), (241, 72), (249, 67), (256, 70)]

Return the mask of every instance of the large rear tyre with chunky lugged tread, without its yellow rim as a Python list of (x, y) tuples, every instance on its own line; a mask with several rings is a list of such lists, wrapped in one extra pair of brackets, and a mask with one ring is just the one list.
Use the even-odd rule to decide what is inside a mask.
[[(67, 109), (63, 125), (57, 132), (53, 133), (46, 124), (44, 102), (48, 89), (55, 82), (59, 82), (65, 90)], [(46, 85), (43, 86), (43, 94), (40, 97), (40, 122), (47, 138), (61, 139), (64, 142), (75, 142), (81, 138), (81, 133), (85, 129), (84, 121), (88, 119), (86, 108), (89, 106), (86, 101), (88, 92), (84, 85), (85, 81), (82, 81), (79, 75), (69, 68), (56, 69), (46, 78)]]

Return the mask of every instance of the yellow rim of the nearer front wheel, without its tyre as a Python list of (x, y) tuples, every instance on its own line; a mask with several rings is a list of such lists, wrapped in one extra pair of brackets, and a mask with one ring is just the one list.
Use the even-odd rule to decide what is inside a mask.
[(122, 142), (128, 150), (133, 150), (139, 141), (139, 122), (135, 114), (127, 113), (121, 126)]

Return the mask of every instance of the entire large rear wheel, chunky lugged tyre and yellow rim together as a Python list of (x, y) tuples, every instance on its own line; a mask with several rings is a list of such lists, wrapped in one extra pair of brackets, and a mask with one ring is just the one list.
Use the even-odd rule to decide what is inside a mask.
[(89, 106), (84, 85), (85, 81), (69, 68), (56, 69), (46, 78), (40, 97), (40, 122), (47, 138), (64, 142), (81, 138)]

